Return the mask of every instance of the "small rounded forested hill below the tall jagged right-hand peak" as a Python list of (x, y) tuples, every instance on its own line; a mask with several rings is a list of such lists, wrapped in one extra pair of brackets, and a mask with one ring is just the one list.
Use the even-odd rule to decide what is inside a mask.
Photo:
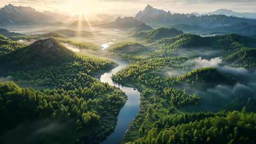
[(162, 38), (171, 38), (183, 34), (182, 30), (175, 28), (157, 28), (148, 32), (137, 32), (133, 34), (133, 37), (141, 38), (147, 42), (159, 40)]

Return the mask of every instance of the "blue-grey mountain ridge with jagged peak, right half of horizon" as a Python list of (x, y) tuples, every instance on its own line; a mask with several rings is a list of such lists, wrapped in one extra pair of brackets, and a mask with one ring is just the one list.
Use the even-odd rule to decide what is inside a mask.
[(221, 27), (240, 22), (246, 22), (250, 25), (256, 24), (256, 19), (228, 17), (225, 15), (204, 15), (199, 17), (196, 15), (199, 14), (172, 14), (170, 11), (166, 12), (147, 5), (144, 10), (137, 13), (135, 19), (150, 25), (162, 24), (164, 26), (187, 24), (202, 27)]

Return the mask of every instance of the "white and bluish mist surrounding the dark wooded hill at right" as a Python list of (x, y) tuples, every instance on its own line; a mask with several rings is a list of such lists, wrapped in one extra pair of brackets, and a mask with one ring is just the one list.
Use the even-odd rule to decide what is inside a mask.
[(250, 72), (244, 68), (230, 67), (223, 62), (221, 57), (203, 59), (197, 57), (185, 63), (185, 66), (191, 66), (189, 70), (178, 70), (174, 68), (164, 68), (158, 74), (166, 76), (185, 75), (192, 70), (206, 67), (215, 67), (221, 74), (225, 74), (237, 81), (233, 85), (212, 85), (204, 82), (196, 85), (181, 83), (174, 87), (185, 89), (187, 94), (196, 94), (201, 97), (200, 106), (189, 106), (187, 110), (211, 110), (217, 111), (228, 108), (232, 100), (243, 97), (253, 97), (256, 95), (256, 71)]

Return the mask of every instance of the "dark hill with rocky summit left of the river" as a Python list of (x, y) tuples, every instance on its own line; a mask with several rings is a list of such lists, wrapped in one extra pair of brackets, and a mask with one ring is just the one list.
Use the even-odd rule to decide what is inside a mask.
[(58, 65), (75, 59), (74, 53), (53, 38), (38, 40), (32, 45), (0, 56), (1, 65), (8, 70), (29, 70)]

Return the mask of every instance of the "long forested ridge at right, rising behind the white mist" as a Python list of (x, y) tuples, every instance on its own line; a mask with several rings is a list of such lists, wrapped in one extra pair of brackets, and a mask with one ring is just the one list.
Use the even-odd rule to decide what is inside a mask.
[(208, 50), (219, 50), (226, 62), (233, 66), (254, 70), (256, 68), (256, 39), (227, 34), (222, 36), (202, 37), (192, 34), (183, 34), (173, 38), (163, 38), (152, 44), (157, 55), (175, 54), (180, 48), (193, 49), (203, 47)]

